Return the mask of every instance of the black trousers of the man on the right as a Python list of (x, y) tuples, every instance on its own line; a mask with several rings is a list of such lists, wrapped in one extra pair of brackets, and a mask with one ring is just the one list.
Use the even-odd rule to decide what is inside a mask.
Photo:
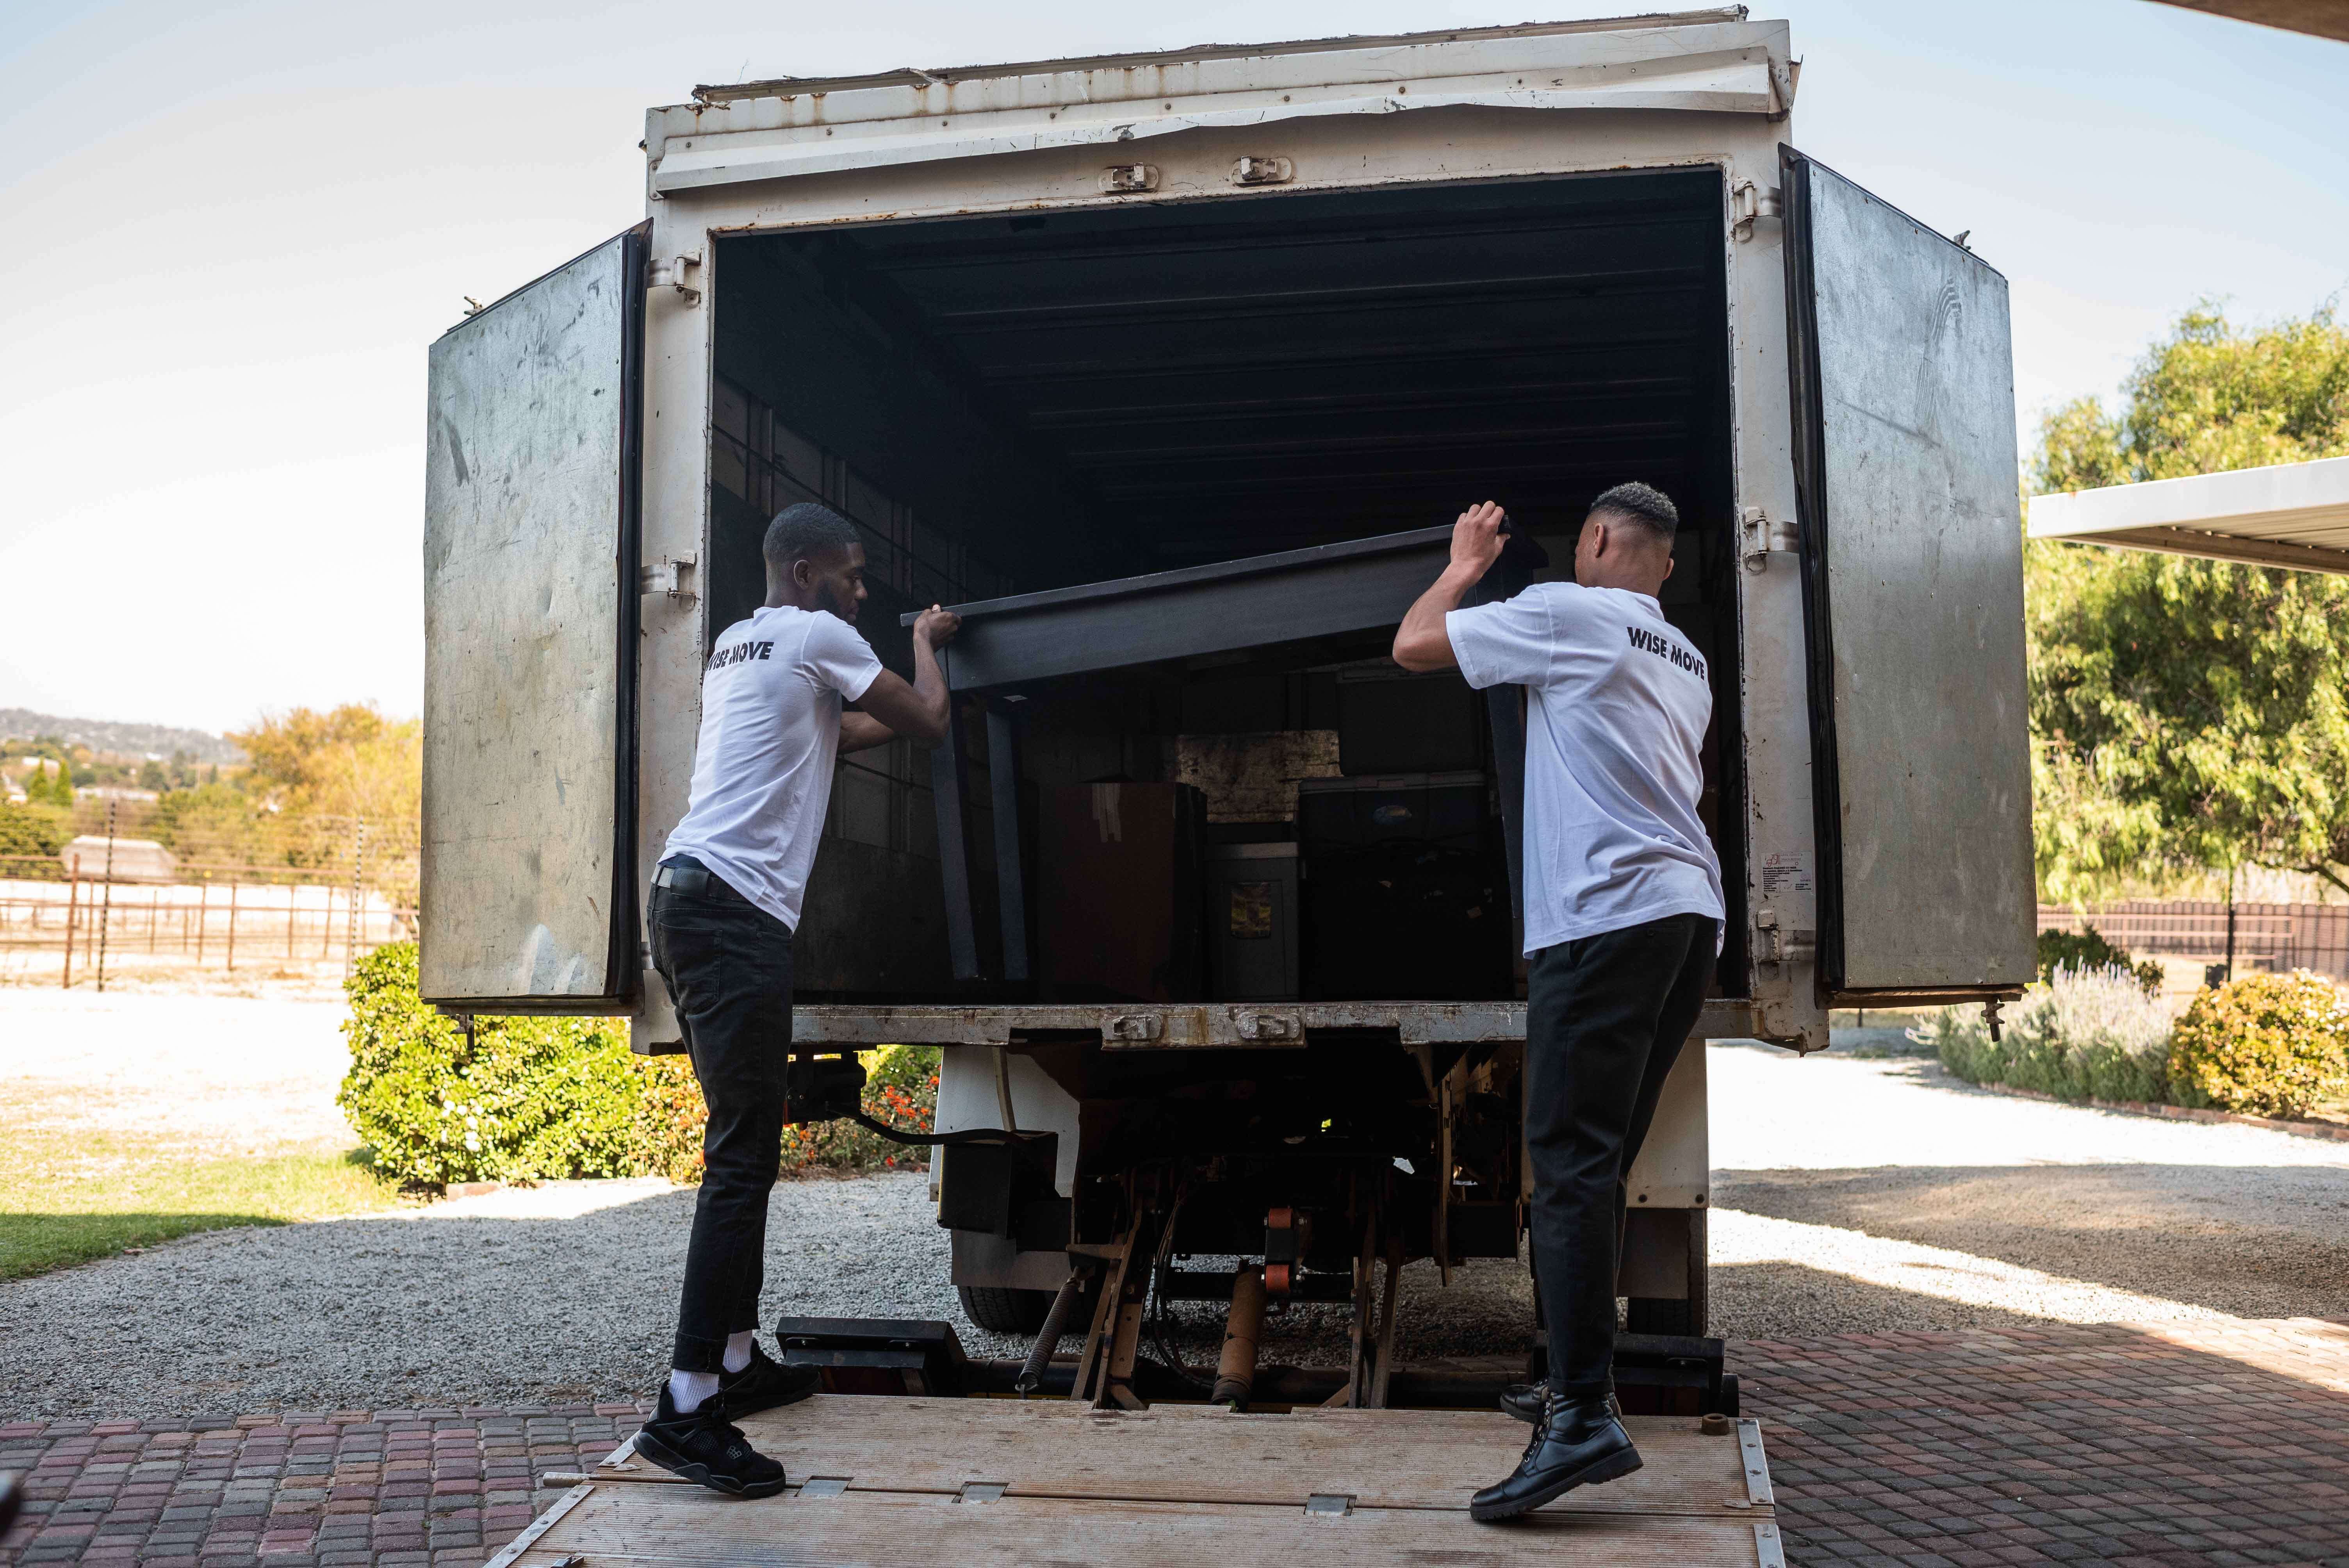
[(1525, 1138), (1534, 1160), (1534, 1279), (1550, 1387), (1614, 1392), (1623, 1174), (1696, 1028), (1715, 920), (1665, 915), (1534, 953), (1525, 1005)]

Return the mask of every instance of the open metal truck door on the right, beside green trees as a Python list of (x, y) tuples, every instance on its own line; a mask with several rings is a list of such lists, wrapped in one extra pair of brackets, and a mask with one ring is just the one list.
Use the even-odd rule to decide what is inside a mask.
[(1781, 148), (1818, 812), (1818, 976), (2034, 972), (2006, 279)]

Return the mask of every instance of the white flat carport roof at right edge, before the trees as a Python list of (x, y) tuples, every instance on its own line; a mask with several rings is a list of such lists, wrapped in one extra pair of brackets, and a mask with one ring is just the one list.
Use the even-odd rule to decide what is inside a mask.
[(2349, 573), (2349, 458), (2039, 495), (2032, 538)]

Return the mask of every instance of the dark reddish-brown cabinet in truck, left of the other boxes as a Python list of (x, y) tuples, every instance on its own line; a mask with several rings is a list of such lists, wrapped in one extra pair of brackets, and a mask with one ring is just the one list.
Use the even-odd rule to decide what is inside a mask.
[(1189, 784), (1073, 784), (1041, 805), (1043, 998), (1198, 1002), (1207, 798)]

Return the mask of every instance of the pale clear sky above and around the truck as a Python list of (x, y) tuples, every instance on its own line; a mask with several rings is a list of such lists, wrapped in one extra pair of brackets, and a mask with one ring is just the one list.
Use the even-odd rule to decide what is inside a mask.
[[(1546, 19), (1628, 5), (1553, 0)], [(2013, 279), (2025, 425), (2349, 284), (2349, 45), (1790, 0), (1797, 141)], [(425, 345), (641, 216), (695, 82), (1525, 21), (1522, 0), (0, 5), (0, 707), (420, 707)]]

